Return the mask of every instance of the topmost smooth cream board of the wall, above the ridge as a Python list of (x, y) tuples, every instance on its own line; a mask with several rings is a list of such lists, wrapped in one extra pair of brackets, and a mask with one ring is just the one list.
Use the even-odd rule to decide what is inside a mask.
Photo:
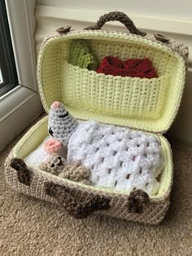
[[(39, 0), (39, 4), (52, 6), (54, 0)], [(129, 11), (137, 15), (168, 17), (169, 19), (192, 20), (191, 0), (55, 0), (55, 7), (92, 9), (105, 11)]]

